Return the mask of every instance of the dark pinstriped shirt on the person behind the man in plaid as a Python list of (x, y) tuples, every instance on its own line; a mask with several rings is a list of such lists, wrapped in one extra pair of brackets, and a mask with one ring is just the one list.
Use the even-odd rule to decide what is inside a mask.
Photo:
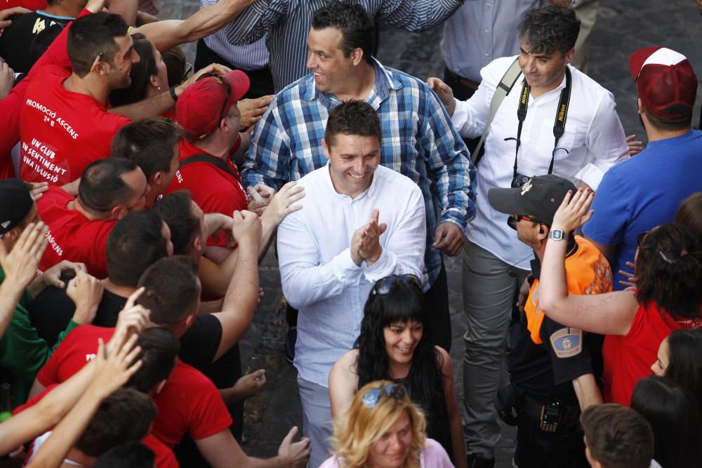
[[(354, 0), (383, 24), (408, 31), (431, 29), (463, 0)], [(307, 33), (312, 15), (329, 0), (258, 0), (225, 27), (230, 44), (251, 44), (267, 33), (276, 93), (307, 74)]]

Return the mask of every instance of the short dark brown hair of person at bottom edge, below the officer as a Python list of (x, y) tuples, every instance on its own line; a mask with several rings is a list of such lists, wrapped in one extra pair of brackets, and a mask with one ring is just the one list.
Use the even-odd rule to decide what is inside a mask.
[(654, 433), (631, 408), (605, 403), (580, 415), (590, 455), (607, 468), (649, 468), (654, 457)]

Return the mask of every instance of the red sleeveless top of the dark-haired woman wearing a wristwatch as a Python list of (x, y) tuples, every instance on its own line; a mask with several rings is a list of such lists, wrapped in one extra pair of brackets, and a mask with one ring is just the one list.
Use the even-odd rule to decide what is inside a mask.
[(604, 337), (604, 401), (630, 406), (636, 382), (651, 375), (665, 337), (680, 328), (701, 327), (702, 319), (675, 321), (653, 301), (639, 306), (629, 333)]

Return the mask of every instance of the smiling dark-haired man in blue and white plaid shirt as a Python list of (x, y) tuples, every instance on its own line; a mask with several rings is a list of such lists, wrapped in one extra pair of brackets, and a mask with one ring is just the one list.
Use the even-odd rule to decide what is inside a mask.
[(371, 57), (375, 39), (362, 6), (331, 2), (314, 13), (307, 38), (312, 74), (270, 103), (251, 135), (241, 178), (250, 187), (277, 189), (325, 166), (322, 138), (330, 109), (345, 100), (368, 102), (383, 131), (380, 164), (411, 178), (424, 196), (424, 290), (435, 316), (427, 331), (432, 342), (448, 350), (451, 321), (442, 253), (458, 255), (463, 248), (465, 225), (475, 216), (475, 168), (433, 91)]

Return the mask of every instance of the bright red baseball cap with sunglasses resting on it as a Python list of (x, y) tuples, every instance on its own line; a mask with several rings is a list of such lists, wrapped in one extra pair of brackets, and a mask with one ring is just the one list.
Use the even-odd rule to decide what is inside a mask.
[(250, 85), (249, 76), (239, 70), (203, 76), (185, 88), (176, 103), (176, 120), (195, 138), (215, 133), (231, 105), (249, 91)]

